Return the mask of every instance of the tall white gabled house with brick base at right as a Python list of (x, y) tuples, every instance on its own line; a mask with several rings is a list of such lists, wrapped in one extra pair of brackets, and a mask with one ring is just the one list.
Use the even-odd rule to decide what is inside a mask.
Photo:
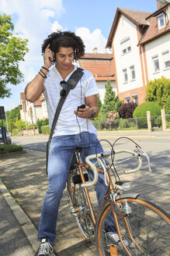
[(154, 13), (117, 8), (106, 47), (113, 48), (120, 100), (141, 104), (148, 80), (169, 78), (169, 12), (169, 2), (164, 0), (158, 1)]

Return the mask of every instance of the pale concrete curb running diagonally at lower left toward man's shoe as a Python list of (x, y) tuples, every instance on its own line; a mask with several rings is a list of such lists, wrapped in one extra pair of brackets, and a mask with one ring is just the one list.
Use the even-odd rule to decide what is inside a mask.
[(2, 191), (2, 195), (5, 198), (5, 201), (7, 202), (7, 204), (9, 204), (9, 207), (11, 208), (13, 214), (19, 222), (19, 226), (26, 234), (26, 237), (29, 240), (29, 244), (35, 252), (39, 247), (39, 242), (37, 241), (38, 232), (36, 227), (33, 225), (33, 222), (31, 222), (26, 213), (23, 212), (23, 209), (20, 208), (19, 204), (17, 204), (16, 200), (9, 193), (9, 190), (7, 190), (4, 183), (2, 183), (2, 180), (0, 180), (0, 190)]

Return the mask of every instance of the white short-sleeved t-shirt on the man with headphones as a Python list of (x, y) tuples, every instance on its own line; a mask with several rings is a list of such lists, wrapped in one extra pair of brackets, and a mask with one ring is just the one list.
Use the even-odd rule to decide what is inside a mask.
[[(71, 74), (75, 69), (66, 77), (65, 81), (68, 81)], [(99, 94), (95, 78), (88, 70), (83, 70), (84, 75), (81, 80), (78, 81), (75, 89), (71, 90), (68, 97), (64, 101), (64, 105), (61, 108), (60, 116), (57, 119), (57, 125), (54, 129), (53, 136), (61, 135), (73, 135), (88, 131), (89, 133), (95, 133), (97, 130), (92, 125), (90, 119), (82, 119), (75, 115), (74, 110), (77, 110), (79, 105), (85, 104), (85, 98), (95, 94)], [(45, 90), (43, 91), (44, 97), (47, 101), (47, 112), (49, 116), (50, 128), (53, 123), (54, 115), (57, 109), (58, 102), (61, 98), (61, 74), (54, 66), (50, 69), (47, 79), (44, 81)]]

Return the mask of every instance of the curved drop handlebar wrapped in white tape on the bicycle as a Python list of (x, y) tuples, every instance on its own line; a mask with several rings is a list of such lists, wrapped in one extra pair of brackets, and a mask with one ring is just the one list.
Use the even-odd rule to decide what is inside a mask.
[[(141, 151), (141, 154), (139, 151), (130, 151), (128, 149), (121, 149), (121, 150), (117, 150), (117, 151), (114, 151), (114, 154), (120, 154), (120, 153), (129, 153), (131, 155), (133, 155), (134, 157), (137, 157), (137, 161), (138, 161), (138, 165), (137, 165), (137, 168), (135, 169), (129, 169), (129, 170), (126, 170), (125, 173), (131, 173), (131, 172), (137, 172), (139, 171), (139, 169), (141, 169), (141, 165), (142, 165), (142, 151)], [(88, 181), (86, 183), (82, 183), (82, 187), (90, 187), (92, 185), (95, 185), (95, 183), (97, 183), (97, 180), (98, 180), (98, 171), (97, 171), (97, 168), (95, 166), (95, 163), (92, 163), (92, 159), (98, 159), (98, 158), (105, 158), (109, 155), (113, 154), (112, 152), (102, 152), (102, 153), (99, 153), (99, 154), (95, 154), (95, 155), (88, 155), (86, 158), (85, 158), (85, 162), (91, 167), (92, 169), (92, 172), (94, 174), (94, 177), (93, 177), (93, 180), (92, 181)], [(104, 171), (104, 175), (106, 176), (106, 169), (104, 168), (103, 169)]]

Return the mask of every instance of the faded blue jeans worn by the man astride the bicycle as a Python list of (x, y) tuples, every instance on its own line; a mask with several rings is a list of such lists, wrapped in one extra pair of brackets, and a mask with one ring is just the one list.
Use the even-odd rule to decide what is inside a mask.
[[(85, 162), (86, 156), (103, 151), (94, 133), (84, 132), (52, 138), (48, 158), (49, 186), (43, 201), (38, 235), (39, 240), (46, 237), (50, 244), (54, 244), (58, 208), (68, 180), (68, 172), (75, 148), (82, 148), (82, 162)], [(92, 171), (88, 171), (88, 175), (92, 180)], [(99, 180), (95, 184), (99, 208), (102, 205), (106, 189), (103, 175), (99, 174)]]

